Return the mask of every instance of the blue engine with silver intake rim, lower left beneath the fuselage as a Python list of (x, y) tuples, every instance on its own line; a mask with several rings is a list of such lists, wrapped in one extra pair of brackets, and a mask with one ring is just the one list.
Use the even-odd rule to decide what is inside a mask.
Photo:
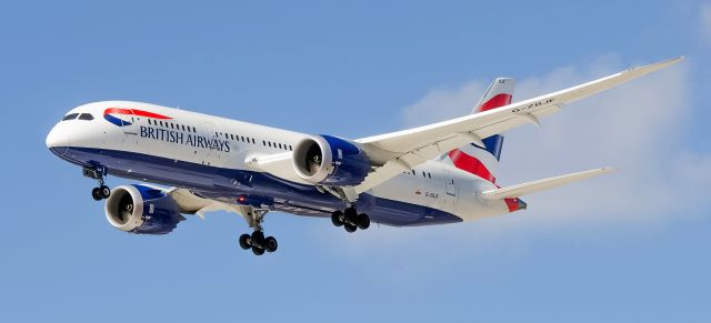
[(104, 209), (111, 225), (137, 234), (166, 234), (186, 220), (171, 196), (146, 185), (114, 188)]

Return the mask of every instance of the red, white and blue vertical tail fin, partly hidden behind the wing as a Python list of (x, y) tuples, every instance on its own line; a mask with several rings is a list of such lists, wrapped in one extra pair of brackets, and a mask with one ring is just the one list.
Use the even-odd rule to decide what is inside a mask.
[[(477, 107), (474, 107), (472, 113), (483, 112), (511, 103), (514, 85), (514, 79), (495, 79), (491, 85), (489, 85), (487, 92), (481, 97), (481, 100)], [(503, 137), (494, 134), (483, 139), (482, 141), (484, 147), (470, 143), (465, 147), (450, 151), (448, 155), (458, 169), (464, 170), (494, 183), (497, 181), (494, 172), (501, 157)]]

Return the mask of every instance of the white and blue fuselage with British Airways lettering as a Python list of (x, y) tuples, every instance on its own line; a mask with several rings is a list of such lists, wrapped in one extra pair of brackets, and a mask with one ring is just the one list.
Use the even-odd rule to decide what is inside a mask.
[[(107, 118), (106, 112), (112, 108), (118, 110)], [(121, 109), (151, 114), (121, 113)], [(72, 113), (90, 113), (93, 120), (59, 122), (47, 144), (73, 163), (100, 163), (112, 175), (187, 188), (223, 202), (234, 203), (236, 196), (242, 195), (259, 196), (279, 211), (296, 214), (324, 216), (339, 203), (291, 169), (280, 170), (277, 176), (249, 163), (258, 157), (290, 154), (308, 134), (127, 101), (89, 103), (68, 115)], [(494, 184), (441, 159), (420, 164), (367, 193), (374, 196), (370, 208), (380, 210), (375, 213), (384, 212), (381, 218), (373, 216), (374, 222), (418, 225), (508, 213), (502, 201), (478, 196), (492, 189)], [(402, 219), (393, 218), (398, 212), (402, 212)], [(448, 220), (442, 214), (455, 218)]]

